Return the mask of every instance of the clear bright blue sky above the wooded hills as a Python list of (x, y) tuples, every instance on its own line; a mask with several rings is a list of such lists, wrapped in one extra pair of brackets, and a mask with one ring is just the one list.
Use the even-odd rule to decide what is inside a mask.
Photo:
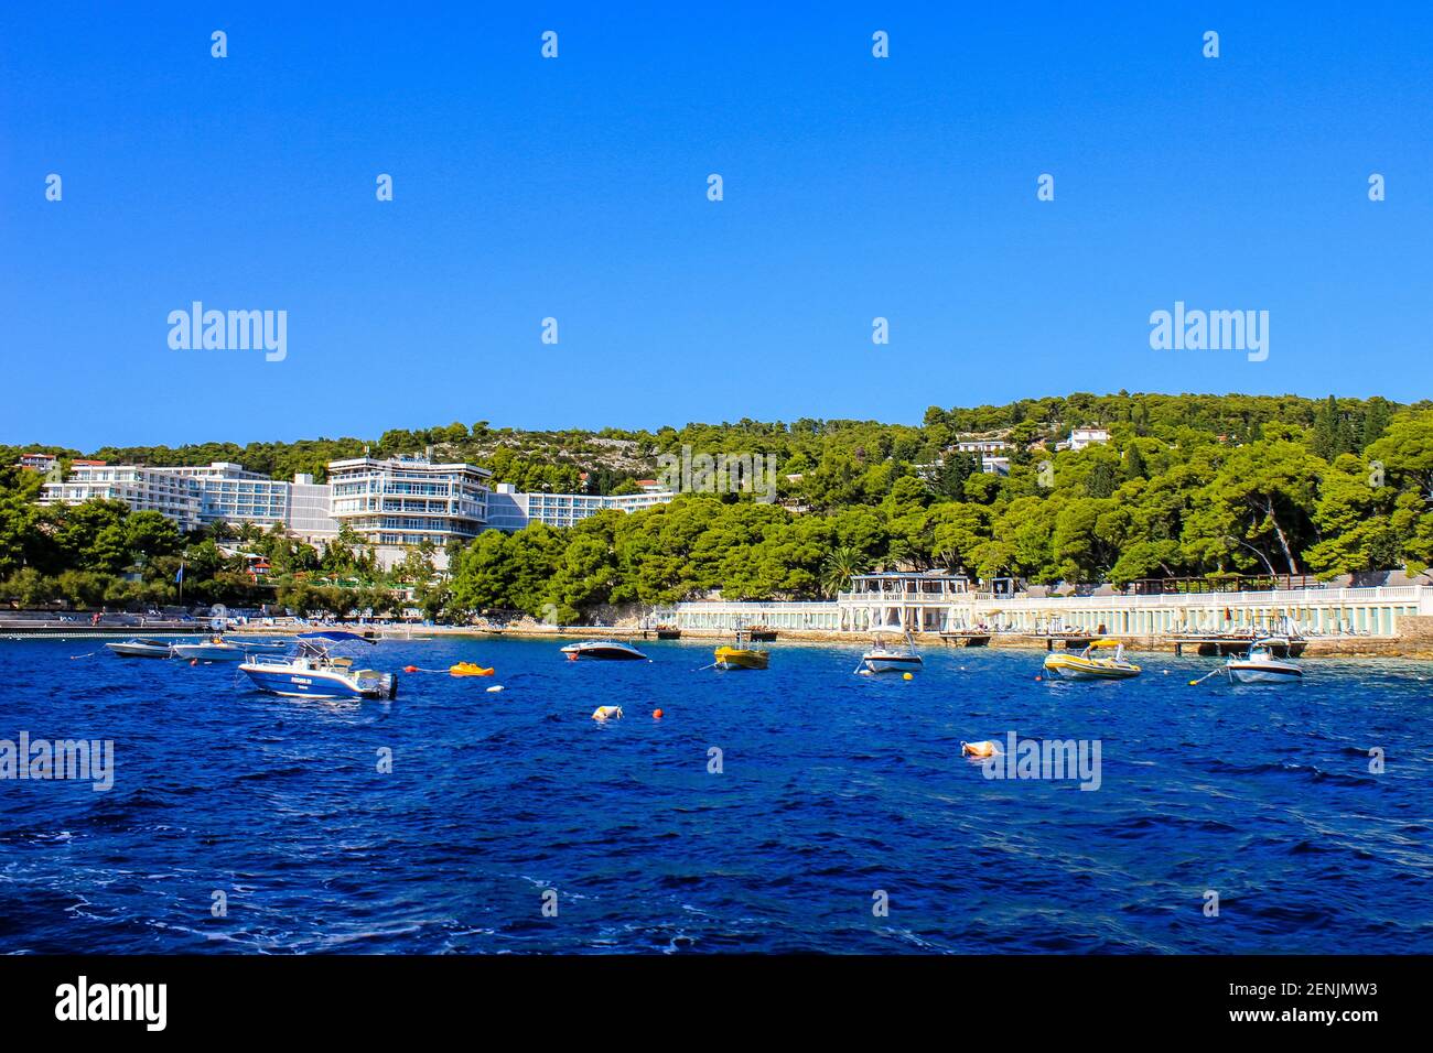
[[(1424, 3), (308, 7), (0, 14), (0, 443), (1433, 394)], [(1268, 361), (1151, 351), (1176, 299)]]

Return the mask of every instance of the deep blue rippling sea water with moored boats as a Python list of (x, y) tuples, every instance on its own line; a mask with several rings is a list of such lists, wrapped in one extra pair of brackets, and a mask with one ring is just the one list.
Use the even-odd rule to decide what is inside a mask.
[[(0, 781), (0, 953), (1433, 951), (1427, 663), (1195, 688), (1212, 659), (1080, 685), (929, 648), (907, 682), (854, 646), (727, 673), (711, 642), (557, 646), (385, 642), (375, 668), (497, 675), (314, 702), (0, 642), (0, 739), (115, 744), (109, 792)], [(1010, 731), (1099, 739), (1099, 789), (962, 759)]]

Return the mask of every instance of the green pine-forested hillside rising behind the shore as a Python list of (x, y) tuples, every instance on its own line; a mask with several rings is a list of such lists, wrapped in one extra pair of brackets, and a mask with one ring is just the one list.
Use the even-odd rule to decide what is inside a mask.
[[(1056, 450), (1078, 425), (1103, 425), (1111, 440)], [(982, 474), (973, 458), (950, 451), (972, 434), (1010, 443), (1007, 477)], [(606, 513), (567, 530), (483, 534), (453, 553), (451, 582), (427, 590), (430, 607), (447, 605), (456, 613), (556, 609), (572, 620), (599, 603), (668, 603), (718, 589), (734, 599), (808, 597), (881, 566), (1125, 585), (1228, 572), (1420, 570), (1433, 562), (1433, 405), (1383, 398), (1075, 394), (931, 407), (919, 425), (742, 420), (533, 433), (479, 421), (368, 441), (89, 456), (153, 464), (232, 460), (284, 477), (321, 476), (324, 463), (358, 456), (365, 446), (375, 456), (433, 447), (436, 457), (493, 468), (497, 481), (553, 491), (577, 489), (582, 471), (598, 491), (631, 490), (632, 480), (656, 477), (658, 456), (684, 447), (765, 454), (778, 466), (774, 504), (748, 494), (684, 494), (668, 506)], [(17, 453), (0, 448), (0, 460), (11, 463)], [(26, 595), (59, 589), (64, 573), (113, 574), (155, 560), (166, 566), (166, 557), (202, 542), (182, 539), (173, 553), (156, 552), (148, 527), (132, 539), (129, 527), (106, 523), (103, 544), (66, 547), (63, 539), (79, 530), (72, 520), (93, 513), (37, 509), (27, 491), (33, 483), (33, 473), (0, 476), (0, 582), (27, 570), (54, 583), (30, 580)], [(292, 573), (320, 573), (320, 554), (305, 559), (314, 566)], [(361, 560), (361, 552), (353, 559)], [(408, 580), (423, 577), (421, 560), (410, 570)], [(150, 574), (150, 585), (155, 595), (165, 590), (159, 574)]]

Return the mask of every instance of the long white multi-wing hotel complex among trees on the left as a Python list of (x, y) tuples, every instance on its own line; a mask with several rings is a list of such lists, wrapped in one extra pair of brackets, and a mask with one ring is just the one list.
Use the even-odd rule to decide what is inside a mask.
[(76, 461), (69, 480), (44, 486), (39, 503), (103, 497), (125, 501), (133, 511), (159, 511), (183, 530), (211, 523), (282, 524), (295, 537), (318, 543), (347, 523), (387, 566), (424, 540), (441, 552), (450, 540), (470, 542), (483, 530), (522, 530), (529, 523), (567, 527), (605, 509), (631, 513), (676, 496), (671, 490), (519, 493), (509, 483), (492, 489), (487, 468), (424, 457), (330, 461), (328, 479), (314, 483), (312, 476), (298, 474), (282, 481), (228, 461), (159, 468)]

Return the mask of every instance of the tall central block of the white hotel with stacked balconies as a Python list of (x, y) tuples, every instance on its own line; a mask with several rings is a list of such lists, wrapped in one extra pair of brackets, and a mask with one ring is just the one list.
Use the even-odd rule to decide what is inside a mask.
[(487, 526), (492, 474), (476, 464), (436, 464), (426, 457), (330, 461), (328, 514), (378, 549), (423, 542), (443, 549), (450, 540), (470, 542)]

